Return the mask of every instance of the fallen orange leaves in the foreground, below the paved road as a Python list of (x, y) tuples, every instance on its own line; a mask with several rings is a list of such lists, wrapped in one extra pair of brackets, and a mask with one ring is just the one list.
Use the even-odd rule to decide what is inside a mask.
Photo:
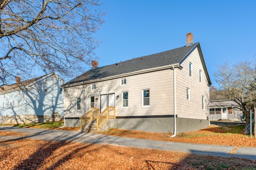
[(254, 169), (256, 162), (114, 145), (33, 139), (0, 141), (1, 170), (240, 170), (244, 167)]

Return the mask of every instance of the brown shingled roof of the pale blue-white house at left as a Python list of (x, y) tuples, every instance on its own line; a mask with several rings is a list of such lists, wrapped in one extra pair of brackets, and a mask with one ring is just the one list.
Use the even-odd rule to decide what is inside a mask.
[[(46, 75), (44, 75), (46, 76)], [(18, 83), (15, 83), (15, 84), (11, 84), (9, 86), (3, 86), (2, 88), (0, 88), (0, 93), (2, 92), (8, 92), (10, 90), (17, 90), (17, 89), (22, 89), (24, 88), (25, 86), (29, 85), (30, 83), (32, 82), (35, 82), (36, 80), (44, 77), (44, 76), (40, 76), (40, 77), (36, 77), (36, 78), (32, 78), (30, 80), (25, 80), (25, 81), (22, 81), (22, 82), (18, 82)]]

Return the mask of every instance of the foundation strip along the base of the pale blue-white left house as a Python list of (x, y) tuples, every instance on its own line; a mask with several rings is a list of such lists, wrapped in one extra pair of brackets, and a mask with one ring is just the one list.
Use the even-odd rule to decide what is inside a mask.
[(12, 115), (0, 116), (0, 124), (26, 124), (46, 121), (62, 121), (63, 116), (54, 115)]

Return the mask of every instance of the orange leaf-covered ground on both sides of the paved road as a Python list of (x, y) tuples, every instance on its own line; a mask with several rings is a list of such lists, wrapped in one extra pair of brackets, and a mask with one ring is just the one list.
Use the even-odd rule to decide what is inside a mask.
[[(254, 138), (232, 129), (209, 127), (202, 131), (181, 133), (174, 138), (164, 133), (146, 133), (110, 129), (108, 135), (152, 140), (255, 147)], [(66, 128), (78, 130), (78, 128)], [(1, 136), (24, 135), (0, 131)], [(236, 139), (236, 140), (235, 140)], [(242, 140), (242, 141), (241, 141)], [(250, 144), (247, 144), (250, 143)], [(235, 151), (234, 151), (235, 152)], [(114, 145), (54, 142), (32, 139), (0, 141), (0, 170), (255, 170), (256, 161), (243, 158), (202, 156), (183, 152), (138, 149)]]

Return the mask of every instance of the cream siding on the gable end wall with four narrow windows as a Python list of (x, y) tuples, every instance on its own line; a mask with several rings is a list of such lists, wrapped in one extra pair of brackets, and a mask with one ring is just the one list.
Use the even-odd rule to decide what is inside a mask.
[[(192, 77), (189, 76), (189, 63), (193, 64)], [(207, 119), (209, 114), (209, 86), (204, 72), (198, 49), (196, 48), (180, 64), (177, 69), (177, 115), (191, 119)], [(202, 71), (202, 82), (199, 81), (199, 70)], [(190, 100), (186, 98), (186, 88), (190, 88)], [(205, 98), (205, 108), (202, 109), (202, 96)]]

